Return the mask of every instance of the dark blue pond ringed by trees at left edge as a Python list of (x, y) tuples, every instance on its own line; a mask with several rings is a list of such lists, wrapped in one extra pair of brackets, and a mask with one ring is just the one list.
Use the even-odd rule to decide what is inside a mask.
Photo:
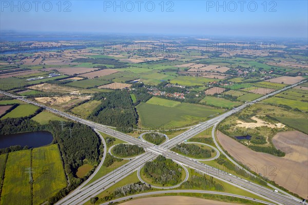
[(0, 148), (7, 148), (14, 145), (29, 148), (41, 147), (52, 142), (52, 134), (47, 131), (23, 132), (10, 135), (0, 135)]

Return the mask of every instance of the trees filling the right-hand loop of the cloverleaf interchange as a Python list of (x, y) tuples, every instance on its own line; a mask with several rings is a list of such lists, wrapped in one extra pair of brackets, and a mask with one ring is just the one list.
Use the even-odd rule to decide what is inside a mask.
[(177, 145), (171, 150), (175, 152), (183, 153), (190, 157), (196, 157), (196, 158), (209, 158), (211, 156), (210, 150), (202, 149), (199, 146), (194, 145), (194, 144), (181, 143), (180, 145)]

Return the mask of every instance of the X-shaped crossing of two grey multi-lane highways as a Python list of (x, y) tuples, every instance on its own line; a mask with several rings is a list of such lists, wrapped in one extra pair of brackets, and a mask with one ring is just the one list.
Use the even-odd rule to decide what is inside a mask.
[[(301, 82), (301, 83), (303, 83), (303, 82)], [(200, 132), (208, 129), (211, 126), (218, 124), (224, 118), (244, 109), (246, 106), (252, 105), (252, 104), (256, 103), (257, 101), (260, 101), (262, 99), (265, 99), (266, 97), (275, 95), (275, 94), (282, 92), (286, 89), (289, 89), (291, 87), (295, 87), (299, 84), (300, 83), (297, 83), (295, 85), (289, 86), (289, 87), (281, 89), (279, 91), (275, 91), (274, 93), (265, 95), (265, 96), (263, 96), (259, 99), (256, 99), (256, 100), (254, 100), (250, 103), (243, 104), (243, 105), (237, 107), (236, 109), (230, 110), (230, 111), (223, 113), (222, 115), (219, 115), (215, 118), (209, 119), (206, 122), (202, 122), (201, 124), (198, 124), (194, 128), (191, 128), (191, 129), (185, 131), (184, 133), (164, 142), (160, 146), (153, 146), (149, 142), (146, 142), (146, 141), (141, 140), (141, 139), (136, 139), (134, 137), (131, 137), (127, 134), (124, 134), (124, 133), (121, 133), (121, 132), (118, 132), (118, 131), (114, 131), (114, 130), (108, 128), (107, 126), (100, 125), (100, 124), (97, 124), (97, 123), (89, 121), (89, 120), (85, 120), (85, 119), (82, 119), (82, 118), (79, 118), (79, 117), (69, 115), (67, 113), (55, 110), (53, 108), (49, 108), (49, 107), (46, 107), (44, 105), (40, 105), (40, 104), (35, 103), (33, 101), (30, 101), (28, 99), (24, 99), (24, 98), (18, 98), (18, 99), (25, 101), (27, 103), (36, 105), (36, 106), (43, 107), (46, 110), (49, 110), (49, 111), (56, 113), (58, 115), (61, 115), (63, 117), (72, 119), (74, 121), (81, 122), (83, 124), (91, 126), (92, 128), (95, 128), (98, 131), (101, 131), (101, 132), (104, 132), (104, 133), (111, 135), (113, 137), (122, 139), (122, 140), (127, 141), (131, 144), (136, 144), (138, 146), (141, 146), (147, 151), (145, 154), (140, 155), (140, 157), (129, 161), (128, 163), (126, 163), (121, 168), (115, 170), (115, 172), (112, 172), (112, 173), (105, 175), (104, 177), (98, 179), (97, 181), (94, 181), (93, 183), (91, 183), (88, 186), (85, 186), (82, 189), (77, 189), (77, 190), (73, 191), (68, 196), (64, 197), (59, 202), (57, 202), (57, 204), (82, 204), (82, 203), (85, 203), (86, 201), (89, 200), (90, 197), (96, 196), (97, 194), (101, 193), (102, 191), (104, 191), (108, 187), (112, 186), (115, 182), (122, 180), (123, 178), (125, 178), (126, 176), (131, 174), (132, 172), (138, 170), (138, 168), (142, 167), (143, 164), (146, 161), (153, 160), (158, 154), (161, 154), (161, 155), (163, 155), (167, 158), (171, 158), (175, 161), (178, 161), (181, 164), (186, 165), (187, 167), (199, 170), (199, 171), (201, 171), (201, 172), (203, 172), (207, 175), (210, 175), (210, 176), (213, 176), (213, 177), (218, 178), (220, 180), (223, 180), (227, 183), (230, 183), (233, 186), (239, 187), (243, 190), (246, 190), (248, 192), (251, 192), (253, 194), (261, 196), (261, 197), (263, 197), (263, 198), (265, 198), (269, 201), (272, 201), (276, 204), (298, 204), (300, 200), (296, 199), (292, 196), (284, 195), (284, 194), (281, 194), (281, 193), (276, 193), (276, 192), (274, 192), (274, 190), (264, 188), (260, 185), (253, 183), (253, 182), (241, 179), (239, 177), (236, 177), (236, 176), (231, 175), (229, 173), (226, 173), (224, 171), (221, 171), (221, 170), (218, 170), (216, 168), (204, 165), (201, 162), (189, 159), (189, 158), (182, 156), (180, 154), (176, 154), (176, 153), (174, 153), (174, 152), (172, 152), (168, 149), (170, 149), (170, 148), (176, 146), (177, 144), (180, 144), (181, 142), (184, 142), (185, 140), (199, 134)], [(12, 95), (12, 94), (7, 93), (7, 92), (1, 91), (0, 93), (3, 93), (5, 95), (11, 96), (11, 97), (15, 97), (15, 95)]]

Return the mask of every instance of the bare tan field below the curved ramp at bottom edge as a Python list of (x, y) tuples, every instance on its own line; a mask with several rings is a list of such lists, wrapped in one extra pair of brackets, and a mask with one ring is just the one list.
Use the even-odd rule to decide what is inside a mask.
[(122, 205), (230, 205), (234, 203), (227, 203), (223, 201), (214, 201), (202, 198), (188, 197), (188, 196), (157, 196), (140, 198), (121, 203)]

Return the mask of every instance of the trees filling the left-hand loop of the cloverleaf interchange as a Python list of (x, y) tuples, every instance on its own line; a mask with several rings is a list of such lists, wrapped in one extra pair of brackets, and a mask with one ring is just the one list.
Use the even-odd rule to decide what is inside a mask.
[(117, 146), (114, 146), (112, 152), (114, 155), (117, 155), (119, 157), (130, 157), (144, 153), (144, 150), (138, 145), (119, 144)]

